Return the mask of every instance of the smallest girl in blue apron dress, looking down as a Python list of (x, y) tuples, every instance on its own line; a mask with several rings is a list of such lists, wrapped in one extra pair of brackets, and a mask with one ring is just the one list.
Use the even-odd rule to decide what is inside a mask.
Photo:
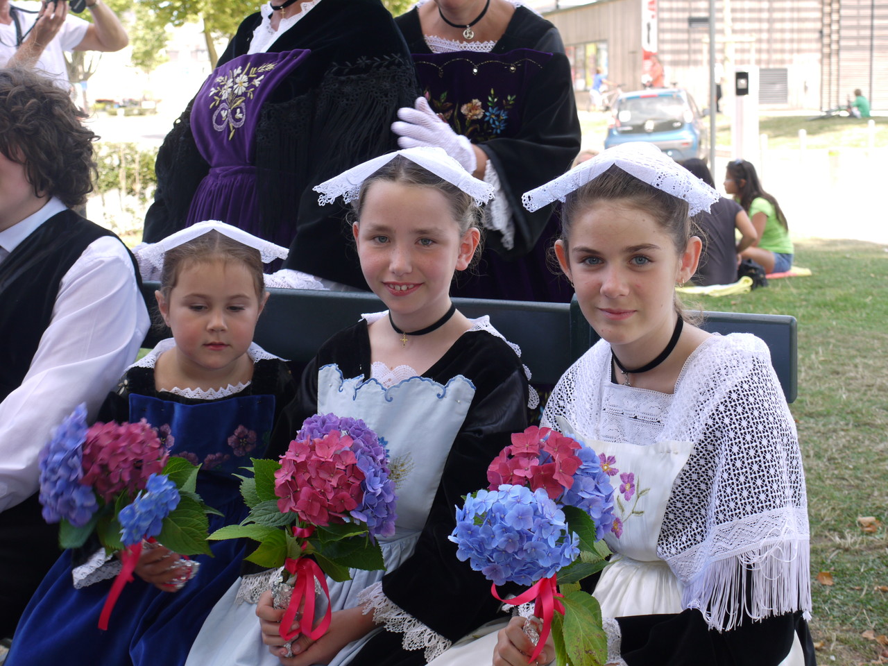
[[(172, 337), (127, 369), (99, 421), (145, 418), (170, 455), (201, 464), (197, 492), (225, 514), (210, 516), (212, 532), (246, 515), (232, 472), (265, 455), (276, 416), (296, 394), (284, 362), (252, 343), (268, 297), (263, 262), (287, 250), (204, 222), (142, 252), (143, 260), (163, 267), (156, 297)], [(97, 624), (118, 560), (107, 561), (100, 546), (83, 553), (85, 563), (65, 551), (22, 616), (6, 663), (185, 662), (203, 618), (241, 572), (242, 543), (210, 548), (213, 557), (190, 560), (163, 545), (144, 550), (138, 577), (123, 588), (106, 631)]]

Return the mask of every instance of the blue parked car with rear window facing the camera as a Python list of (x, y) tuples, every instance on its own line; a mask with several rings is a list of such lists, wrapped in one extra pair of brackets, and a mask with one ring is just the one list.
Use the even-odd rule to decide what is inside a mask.
[(682, 88), (623, 92), (614, 102), (605, 147), (650, 141), (675, 160), (706, 159), (709, 135), (694, 98)]

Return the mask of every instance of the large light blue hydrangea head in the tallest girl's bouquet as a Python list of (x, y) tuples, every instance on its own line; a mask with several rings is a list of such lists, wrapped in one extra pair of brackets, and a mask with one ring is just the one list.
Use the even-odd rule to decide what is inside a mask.
[(496, 585), (532, 585), (567, 567), (580, 552), (564, 511), (543, 488), (531, 492), (508, 484), (467, 496), (448, 538), (458, 546), (458, 559), (469, 560)]

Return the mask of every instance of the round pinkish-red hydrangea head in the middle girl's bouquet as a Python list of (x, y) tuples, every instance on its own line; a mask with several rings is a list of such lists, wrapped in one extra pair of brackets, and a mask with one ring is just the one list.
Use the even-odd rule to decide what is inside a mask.
[(364, 472), (352, 438), (334, 430), (311, 440), (293, 440), (274, 472), (278, 509), (295, 511), (300, 520), (325, 527), (343, 522), (361, 503)]

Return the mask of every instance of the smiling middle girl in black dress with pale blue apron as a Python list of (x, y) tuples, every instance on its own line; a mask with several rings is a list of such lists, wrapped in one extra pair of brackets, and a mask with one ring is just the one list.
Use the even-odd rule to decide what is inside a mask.
[[(383, 155), (318, 186), (353, 201), (361, 271), (388, 307), (331, 337), (309, 364), (273, 443), (285, 447), (306, 416), (363, 419), (390, 456), (396, 534), (382, 543), (387, 573), (328, 578), (332, 622), (312, 643), (284, 646), (270, 593), (234, 617), (220, 602), (191, 664), (424, 664), (496, 615), (490, 583), (456, 559), (454, 506), (486, 485), (488, 464), (526, 427), (527, 379), (488, 318), (450, 301), (454, 274), (479, 243), (479, 204), (491, 187), (440, 148)], [(270, 577), (269, 577), (270, 580)], [(251, 619), (251, 622), (250, 622)], [(489, 655), (489, 653), (488, 653)]]

